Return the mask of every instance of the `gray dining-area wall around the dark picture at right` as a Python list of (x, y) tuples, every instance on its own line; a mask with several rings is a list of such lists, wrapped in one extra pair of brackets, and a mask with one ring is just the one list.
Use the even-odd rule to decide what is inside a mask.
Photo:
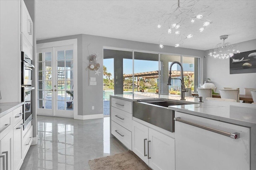
[[(238, 43), (241, 52), (256, 49), (256, 39)], [(229, 74), (229, 59), (215, 59), (205, 51), (204, 59), (204, 81), (207, 78), (215, 84), (218, 89), (223, 87), (240, 88), (240, 94), (244, 94), (244, 88), (256, 88), (256, 73)]]

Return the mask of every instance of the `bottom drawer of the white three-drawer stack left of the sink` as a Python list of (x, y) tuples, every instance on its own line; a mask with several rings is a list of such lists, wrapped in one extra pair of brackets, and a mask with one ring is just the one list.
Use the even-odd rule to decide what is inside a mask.
[(128, 149), (132, 150), (132, 132), (111, 121), (111, 133)]

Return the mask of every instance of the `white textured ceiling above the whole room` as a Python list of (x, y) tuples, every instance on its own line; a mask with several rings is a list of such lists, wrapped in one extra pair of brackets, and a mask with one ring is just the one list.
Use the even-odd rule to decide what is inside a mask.
[[(182, 2), (182, 0), (180, 0)], [(177, 0), (36, 0), (36, 39), (89, 34), (158, 44), (158, 18)], [(180, 47), (208, 50), (228, 35), (232, 44), (256, 39), (256, 0), (200, 0), (213, 23)], [(195, 23), (197, 24), (197, 23)], [(174, 46), (164, 37), (163, 45)]]

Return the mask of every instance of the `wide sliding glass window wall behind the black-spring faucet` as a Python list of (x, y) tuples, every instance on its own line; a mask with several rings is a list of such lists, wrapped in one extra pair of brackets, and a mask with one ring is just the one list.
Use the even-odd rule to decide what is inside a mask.
[[(114, 65), (107, 65), (107, 60), (110, 59)], [(200, 58), (104, 49), (104, 65), (106, 64), (108, 72), (113, 69), (112, 76), (104, 74), (104, 91), (112, 87), (109, 84), (112, 81), (114, 94), (180, 94), (180, 65), (172, 66), (172, 85), (167, 85), (170, 65), (174, 61), (182, 63), (185, 87), (194, 92), (200, 83)]]

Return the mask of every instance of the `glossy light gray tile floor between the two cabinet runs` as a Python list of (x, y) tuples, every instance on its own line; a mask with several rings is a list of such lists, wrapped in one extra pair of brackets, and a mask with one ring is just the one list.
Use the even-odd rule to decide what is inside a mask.
[(30, 147), (20, 170), (90, 170), (88, 160), (127, 150), (110, 138), (110, 117), (38, 116), (37, 120), (38, 145)]

